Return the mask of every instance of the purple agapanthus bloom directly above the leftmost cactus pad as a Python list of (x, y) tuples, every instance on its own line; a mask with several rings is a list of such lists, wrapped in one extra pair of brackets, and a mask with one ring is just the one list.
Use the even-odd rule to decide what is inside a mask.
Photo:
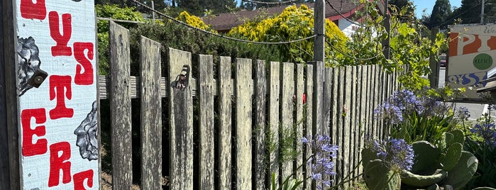
[(403, 139), (387, 138), (374, 140), (372, 150), (377, 152), (377, 158), (383, 160), (395, 172), (402, 169), (409, 171), (414, 163), (414, 150)]

